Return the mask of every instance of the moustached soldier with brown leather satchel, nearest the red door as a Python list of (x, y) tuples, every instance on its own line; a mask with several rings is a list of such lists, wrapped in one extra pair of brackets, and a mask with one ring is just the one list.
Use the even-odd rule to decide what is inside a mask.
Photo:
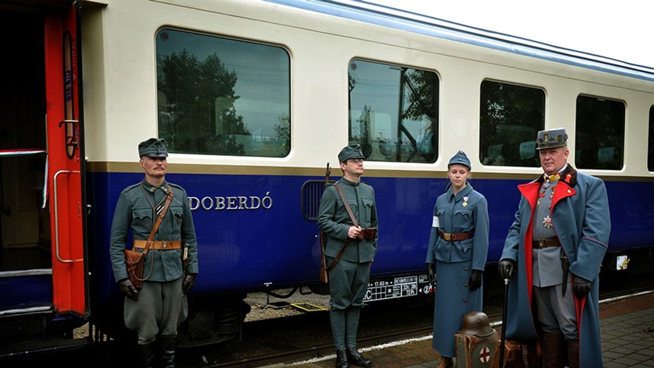
[[(139, 335), (145, 366), (154, 367), (156, 356), (160, 356), (162, 367), (174, 367), (177, 326), (187, 314), (185, 295), (193, 288), (198, 275), (198, 242), (186, 192), (181, 186), (165, 181), (168, 156), (165, 139), (141, 142), (139, 156), (145, 178), (120, 193), (111, 225), (109, 252), (114, 278), (126, 296), (125, 324)], [(126, 271), (124, 249), (128, 231), (131, 228), (133, 233), (133, 249), (143, 252), (170, 190), (173, 199), (145, 258), (143, 277), (150, 276), (143, 282), (143, 288), (137, 290)], [(188, 244), (185, 276), (184, 244)], [(157, 335), (161, 340), (160, 353), (155, 347)]]

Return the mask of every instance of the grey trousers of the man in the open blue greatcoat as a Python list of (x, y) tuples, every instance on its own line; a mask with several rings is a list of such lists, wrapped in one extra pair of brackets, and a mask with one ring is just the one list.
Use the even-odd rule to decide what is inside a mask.
[(543, 331), (549, 333), (562, 333), (566, 340), (576, 340), (577, 316), (574, 308), (572, 284), (568, 280), (566, 295), (561, 295), (561, 286), (547, 286), (538, 288), (534, 286), (538, 322)]

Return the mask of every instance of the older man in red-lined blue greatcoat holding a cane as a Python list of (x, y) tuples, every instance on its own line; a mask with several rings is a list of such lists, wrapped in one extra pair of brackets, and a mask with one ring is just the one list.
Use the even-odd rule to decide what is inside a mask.
[(571, 368), (602, 367), (598, 273), (611, 232), (608, 197), (601, 179), (568, 163), (567, 140), (564, 128), (539, 131), (545, 173), (518, 186), (498, 265), (511, 280), (506, 336), (541, 338), (545, 368), (566, 360)]

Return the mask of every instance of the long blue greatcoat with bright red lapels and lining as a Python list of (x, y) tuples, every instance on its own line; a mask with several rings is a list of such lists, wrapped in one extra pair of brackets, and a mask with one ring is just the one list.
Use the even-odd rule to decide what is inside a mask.
[[(533, 214), (543, 176), (518, 186), (522, 193), (515, 221), (509, 227), (501, 259), (513, 259), (515, 272), (509, 284), (506, 336), (508, 339), (537, 339), (532, 305), (532, 231)], [(604, 182), (578, 173), (568, 165), (552, 197), (554, 229), (570, 261), (570, 276), (593, 282), (591, 292), (581, 299), (574, 297), (579, 331), (579, 361), (583, 367), (602, 367), (598, 273), (608, 248), (611, 233), (608, 197)], [(572, 292), (572, 290), (568, 290)]]

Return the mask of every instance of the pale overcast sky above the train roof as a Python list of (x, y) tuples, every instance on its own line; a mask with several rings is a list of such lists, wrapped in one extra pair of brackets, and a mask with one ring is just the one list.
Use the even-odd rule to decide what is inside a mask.
[(654, 1), (367, 0), (654, 68)]

